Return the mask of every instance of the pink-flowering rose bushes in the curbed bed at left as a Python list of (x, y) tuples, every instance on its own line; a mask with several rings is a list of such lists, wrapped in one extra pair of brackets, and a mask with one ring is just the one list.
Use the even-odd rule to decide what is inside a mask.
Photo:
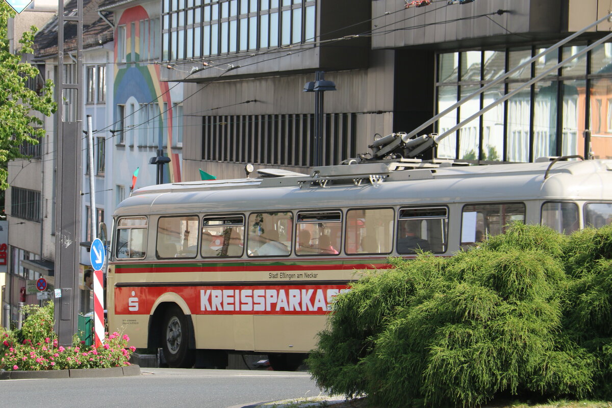
[(112, 333), (100, 347), (84, 346), (78, 338), (70, 347), (58, 345), (53, 332), (53, 303), (42, 308), (28, 305), (28, 317), (21, 330), (0, 328), (0, 369), (47, 370), (68, 368), (108, 368), (130, 365), (135, 347), (127, 347), (129, 337)]

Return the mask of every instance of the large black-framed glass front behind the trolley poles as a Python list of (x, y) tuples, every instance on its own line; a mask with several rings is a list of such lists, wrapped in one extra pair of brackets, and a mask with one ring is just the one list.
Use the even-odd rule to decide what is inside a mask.
[[(521, 67), (439, 119), (437, 132), (446, 132), (584, 48), (586, 43), (567, 45)], [(538, 46), (438, 54), (437, 112), (543, 50), (545, 47)], [(612, 43), (605, 43), (551, 71), (542, 81), (521, 89), (442, 139), (437, 157), (473, 162), (528, 162), (560, 155), (612, 158), (611, 61)], [(585, 130), (591, 131), (590, 148)]]

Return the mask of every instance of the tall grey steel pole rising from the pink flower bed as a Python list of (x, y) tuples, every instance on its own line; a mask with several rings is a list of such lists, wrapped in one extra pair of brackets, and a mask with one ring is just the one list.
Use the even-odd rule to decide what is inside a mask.
[[(54, 330), (62, 346), (72, 344), (77, 329), (78, 264), (81, 234), (81, 113), (83, 75), (83, 0), (77, 0), (76, 13), (64, 13), (58, 2), (58, 152), (55, 225)], [(76, 64), (64, 64), (64, 32), (76, 32)]]

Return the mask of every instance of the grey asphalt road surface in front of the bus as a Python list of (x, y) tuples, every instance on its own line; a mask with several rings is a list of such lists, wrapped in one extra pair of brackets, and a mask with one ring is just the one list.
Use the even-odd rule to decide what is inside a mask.
[(239, 408), (321, 394), (304, 372), (143, 368), (141, 373), (102, 379), (1, 380), (0, 406)]

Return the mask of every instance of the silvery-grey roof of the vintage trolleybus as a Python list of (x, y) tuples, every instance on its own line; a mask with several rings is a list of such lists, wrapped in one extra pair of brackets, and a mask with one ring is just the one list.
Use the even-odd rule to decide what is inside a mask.
[(602, 200), (612, 199), (605, 195), (612, 184), (610, 170), (612, 160), (462, 167), (415, 167), (401, 162), (324, 166), (310, 175), (286, 172), (277, 177), (151, 185), (134, 191), (115, 215)]

